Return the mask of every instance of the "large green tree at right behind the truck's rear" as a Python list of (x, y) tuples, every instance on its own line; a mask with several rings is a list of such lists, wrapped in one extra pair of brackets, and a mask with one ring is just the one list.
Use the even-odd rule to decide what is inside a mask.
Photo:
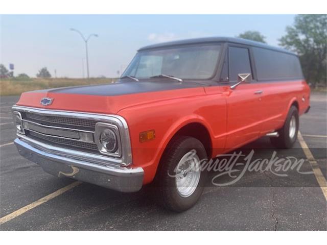
[(295, 52), (308, 82), (326, 85), (327, 14), (299, 14), (279, 45)]

